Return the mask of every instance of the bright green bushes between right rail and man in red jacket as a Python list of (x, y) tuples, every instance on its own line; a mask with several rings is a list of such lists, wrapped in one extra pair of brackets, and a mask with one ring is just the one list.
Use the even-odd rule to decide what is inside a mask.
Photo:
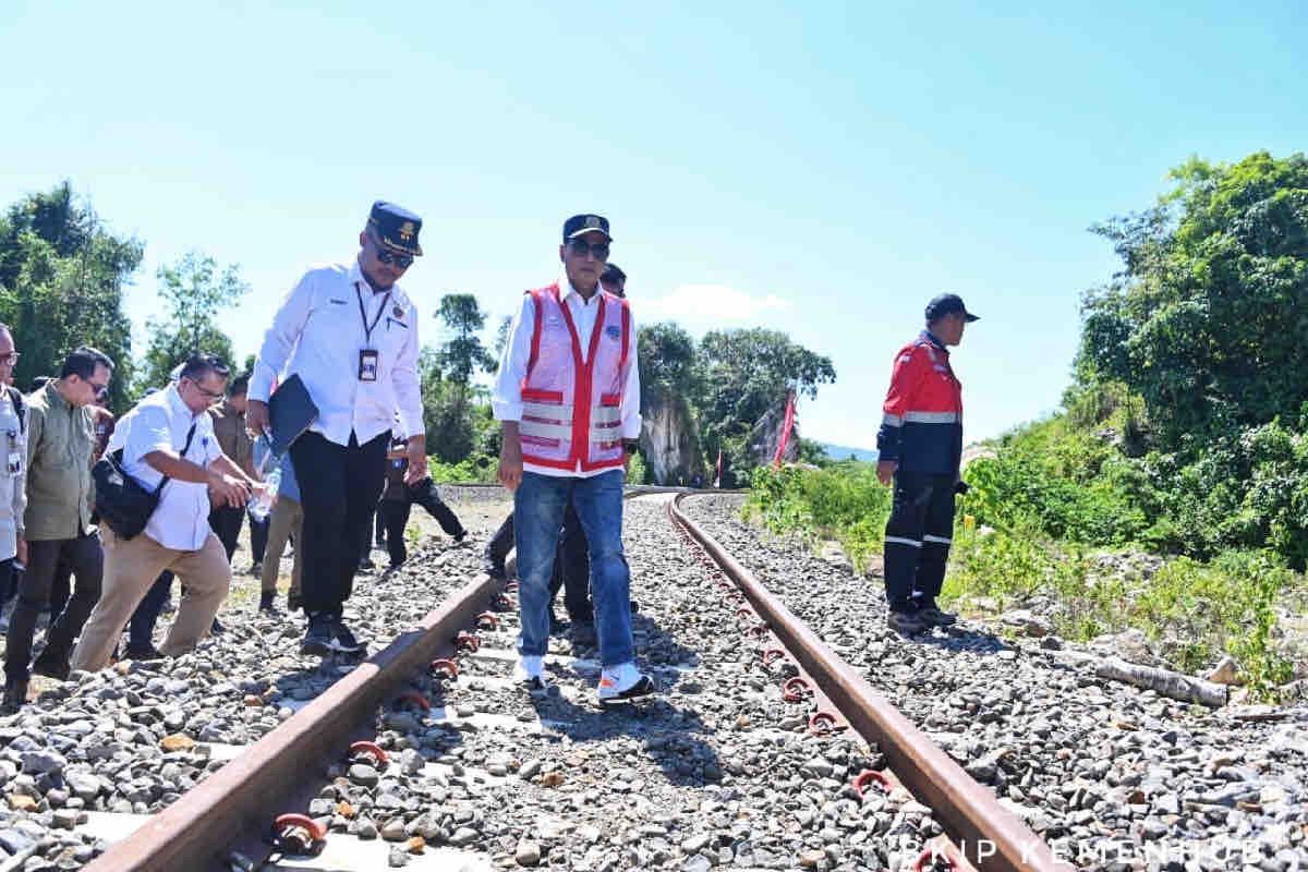
[(882, 553), (891, 492), (872, 464), (848, 460), (827, 469), (757, 467), (744, 511), (773, 532), (800, 532), (840, 541), (862, 570)]

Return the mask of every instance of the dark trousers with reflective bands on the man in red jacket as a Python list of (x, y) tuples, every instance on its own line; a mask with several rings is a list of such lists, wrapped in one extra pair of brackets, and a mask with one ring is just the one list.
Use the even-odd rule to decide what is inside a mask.
[(954, 484), (952, 473), (895, 473), (886, 523), (886, 599), (893, 611), (914, 600), (934, 605), (940, 595), (954, 536)]

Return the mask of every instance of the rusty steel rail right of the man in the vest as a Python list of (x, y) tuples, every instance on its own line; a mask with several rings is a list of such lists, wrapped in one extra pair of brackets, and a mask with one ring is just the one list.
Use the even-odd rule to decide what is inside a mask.
[(841, 659), (780, 597), (764, 587), (722, 545), (681, 511), (681, 494), (668, 514), (740, 587), (760, 617), (818, 681), (854, 729), (886, 756), (900, 782), (931, 808), (968, 863), (1005, 872), (1063, 872), (1073, 868), (1012, 812), (1003, 808), (926, 733), (905, 718)]

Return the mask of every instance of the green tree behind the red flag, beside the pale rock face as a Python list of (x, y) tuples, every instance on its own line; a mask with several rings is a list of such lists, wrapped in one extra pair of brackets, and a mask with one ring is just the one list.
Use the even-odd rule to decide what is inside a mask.
[(755, 422), (794, 390), (810, 399), (821, 384), (836, 380), (829, 357), (791, 341), (780, 331), (760, 327), (713, 331), (696, 350), (702, 444), (710, 459), (721, 448), (729, 481), (744, 481), (753, 465), (748, 437)]

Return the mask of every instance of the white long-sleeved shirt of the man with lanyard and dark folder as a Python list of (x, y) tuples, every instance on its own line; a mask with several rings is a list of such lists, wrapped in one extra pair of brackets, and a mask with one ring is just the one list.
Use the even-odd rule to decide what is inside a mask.
[[(377, 319), (371, 339), (360, 299), (368, 324)], [(375, 382), (358, 378), (364, 349), (378, 354)], [(405, 438), (419, 435), (425, 428), (417, 356), (417, 309), (399, 285), (373, 293), (358, 260), (319, 267), (281, 301), (259, 349), (250, 399), (267, 401), (273, 382), (298, 373), (318, 407), (310, 429), (328, 441), (349, 444), (353, 433), (362, 444), (390, 430), (396, 411)]]

